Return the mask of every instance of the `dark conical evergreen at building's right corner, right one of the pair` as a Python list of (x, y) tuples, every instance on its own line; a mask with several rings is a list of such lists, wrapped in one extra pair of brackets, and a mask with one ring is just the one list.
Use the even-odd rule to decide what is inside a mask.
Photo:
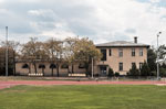
[(144, 62), (142, 68), (141, 68), (141, 75), (142, 76), (151, 76), (151, 69), (148, 67), (148, 64)]

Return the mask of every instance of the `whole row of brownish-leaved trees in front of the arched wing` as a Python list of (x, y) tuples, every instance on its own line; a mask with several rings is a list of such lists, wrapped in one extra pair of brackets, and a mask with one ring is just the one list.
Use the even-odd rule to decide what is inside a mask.
[[(3, 42), (1, 45), (6, 46), (6, 43)], [(38, 41), (37, 37), (30, 37), (30, 41), (24, 44), (9, 42), (8, 45), (17, 52), (15, 57), (27, 61), (29, 73), (33, 66), (35, 74), (38, 73), (37, 62), (46, 61), (50, 62), (52, 75), (54, 68), (56, 68), (56, 76), (60, 75), (59, 68), (62, 63), (72, 66), (71, 70), (69, 68), (69, 73), (74, 73), (74, 63), (82, 63), (86, 68), (86, 74), (90, 75), (89, 66), (92, 58), (98, 61), (102, 56), (94, 43), (86, 37), (68, 37), (63, 41), (49, 39), (44, 42)], [(40, 68), (44, 74), (45, 66), (40, 65)]]

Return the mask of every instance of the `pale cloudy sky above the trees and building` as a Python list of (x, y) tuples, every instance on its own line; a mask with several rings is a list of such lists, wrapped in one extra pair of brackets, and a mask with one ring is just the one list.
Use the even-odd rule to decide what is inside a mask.
[(89, 37), (166, 44), (166, 0), (0, 0), (0, 41)]

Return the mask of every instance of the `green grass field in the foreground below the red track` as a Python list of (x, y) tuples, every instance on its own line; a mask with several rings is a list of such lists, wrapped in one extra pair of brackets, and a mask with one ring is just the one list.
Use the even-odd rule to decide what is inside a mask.
[(0, 90), (0, 109), (166, 109), (166, 86), (15, 86)]

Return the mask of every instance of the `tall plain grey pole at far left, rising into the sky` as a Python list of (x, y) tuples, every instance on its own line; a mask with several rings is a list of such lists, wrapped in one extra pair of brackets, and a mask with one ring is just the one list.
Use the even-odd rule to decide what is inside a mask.
[(8, 26), (6, 26), (6, 76), (8, 76)]

